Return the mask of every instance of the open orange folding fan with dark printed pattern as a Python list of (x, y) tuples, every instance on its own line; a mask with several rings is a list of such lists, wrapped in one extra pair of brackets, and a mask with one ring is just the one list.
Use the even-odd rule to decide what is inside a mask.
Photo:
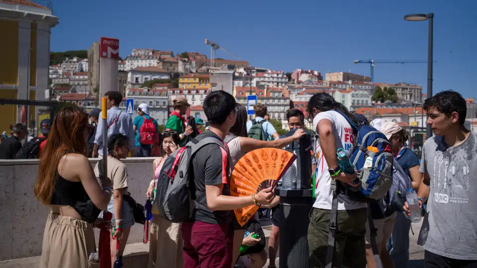
[[(231, 196), (250, 196), (268, 187), (275, 188), (296, 158), (295, 154), (277, 148), (261, 148), (246, 153), (232, 172)], [(257, 209), (256, 205), (235, 209), (239, 224), (243, 226)]]

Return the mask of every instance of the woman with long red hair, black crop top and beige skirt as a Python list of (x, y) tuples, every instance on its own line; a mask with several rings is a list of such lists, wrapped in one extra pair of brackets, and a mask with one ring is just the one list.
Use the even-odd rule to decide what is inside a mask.
[(86, 155), (88, 116), (61, 109), (42, 154), (34, 193), (50, 206), (40, 268), (88, 267), (95, 251), (93, 221), (111, 197), (108, 180), (99, 185)]

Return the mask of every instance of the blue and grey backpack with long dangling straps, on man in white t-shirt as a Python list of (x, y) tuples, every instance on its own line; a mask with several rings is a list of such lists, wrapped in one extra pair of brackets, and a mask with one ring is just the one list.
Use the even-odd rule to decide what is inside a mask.
[[(338, 215), (338, 198), (337, 195), (342, 193), (353, 200), (357, 201), (373, 201), (380, 200), (387, 195), (393, 184), (393, 164), (394, 156), (391, 150), (391, 143), (386, 135), (379, 132), (375, 128), (360, 124), (358, 128), (345, 114), (338, 112), (349, 123), (353, 132), (356, 134), (353, 147), (347, 154), (349, 160), (356, 168), (357, 179), (361, 183), (358, 187), (351, 187), (340, 181), (331, 180), (331, 190), (333, 198), (331, 201), (331, 211), (329, 220), (328, 248), (326, 253), (326, 268), (332, 267), (335, 232), (337, 228), (336, 217)], [(378, 153), (368, 151), (368, 146), (378, 148)], [(373, 161), (371, 169), (364, 168), (364, 163), (368, 155), (372, 155)], [(371, 209), (368, 206), (368, 224), (370, 226), (371, 248), (373, 250), (376, 267), (381, 268), (378, 248), (376, 244), (376, 228), (374, 227)]]

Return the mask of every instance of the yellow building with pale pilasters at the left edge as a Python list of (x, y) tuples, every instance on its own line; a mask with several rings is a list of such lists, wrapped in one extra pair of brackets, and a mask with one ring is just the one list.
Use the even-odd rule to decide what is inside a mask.
[[(50, 66), (51, 1), (0, 0), (0, 99), (44, 100)], [(0, 105), (0, 132), (20, 121), (22, 107)], [(30, 124), (38, 107), (28, 107)], [(29, 126), (32, 127), (32, 126)]]

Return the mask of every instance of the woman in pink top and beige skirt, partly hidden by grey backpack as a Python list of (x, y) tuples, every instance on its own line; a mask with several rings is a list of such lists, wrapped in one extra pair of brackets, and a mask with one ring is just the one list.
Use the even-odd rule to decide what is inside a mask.
[[(179, 135), (175, 131), (165, 131), (162, 134), (162, 148), (164, 156), (154, 160), (154, 179), (149, 184), (146, 193), (147, 198), (156, 199), (156, 185), (160, 175), (160, 170), (165, 159), (179, 148)], [(157, 211), (157, 206), (153, 205), (153, 220), (151, 222), (151, 239), (149, 242), (149, 263), (148, 268), (182, 268), (184, 259), (182, 257), (183, 240), (180, 232), (180, 223), (172, 223), (161, 216)]]

